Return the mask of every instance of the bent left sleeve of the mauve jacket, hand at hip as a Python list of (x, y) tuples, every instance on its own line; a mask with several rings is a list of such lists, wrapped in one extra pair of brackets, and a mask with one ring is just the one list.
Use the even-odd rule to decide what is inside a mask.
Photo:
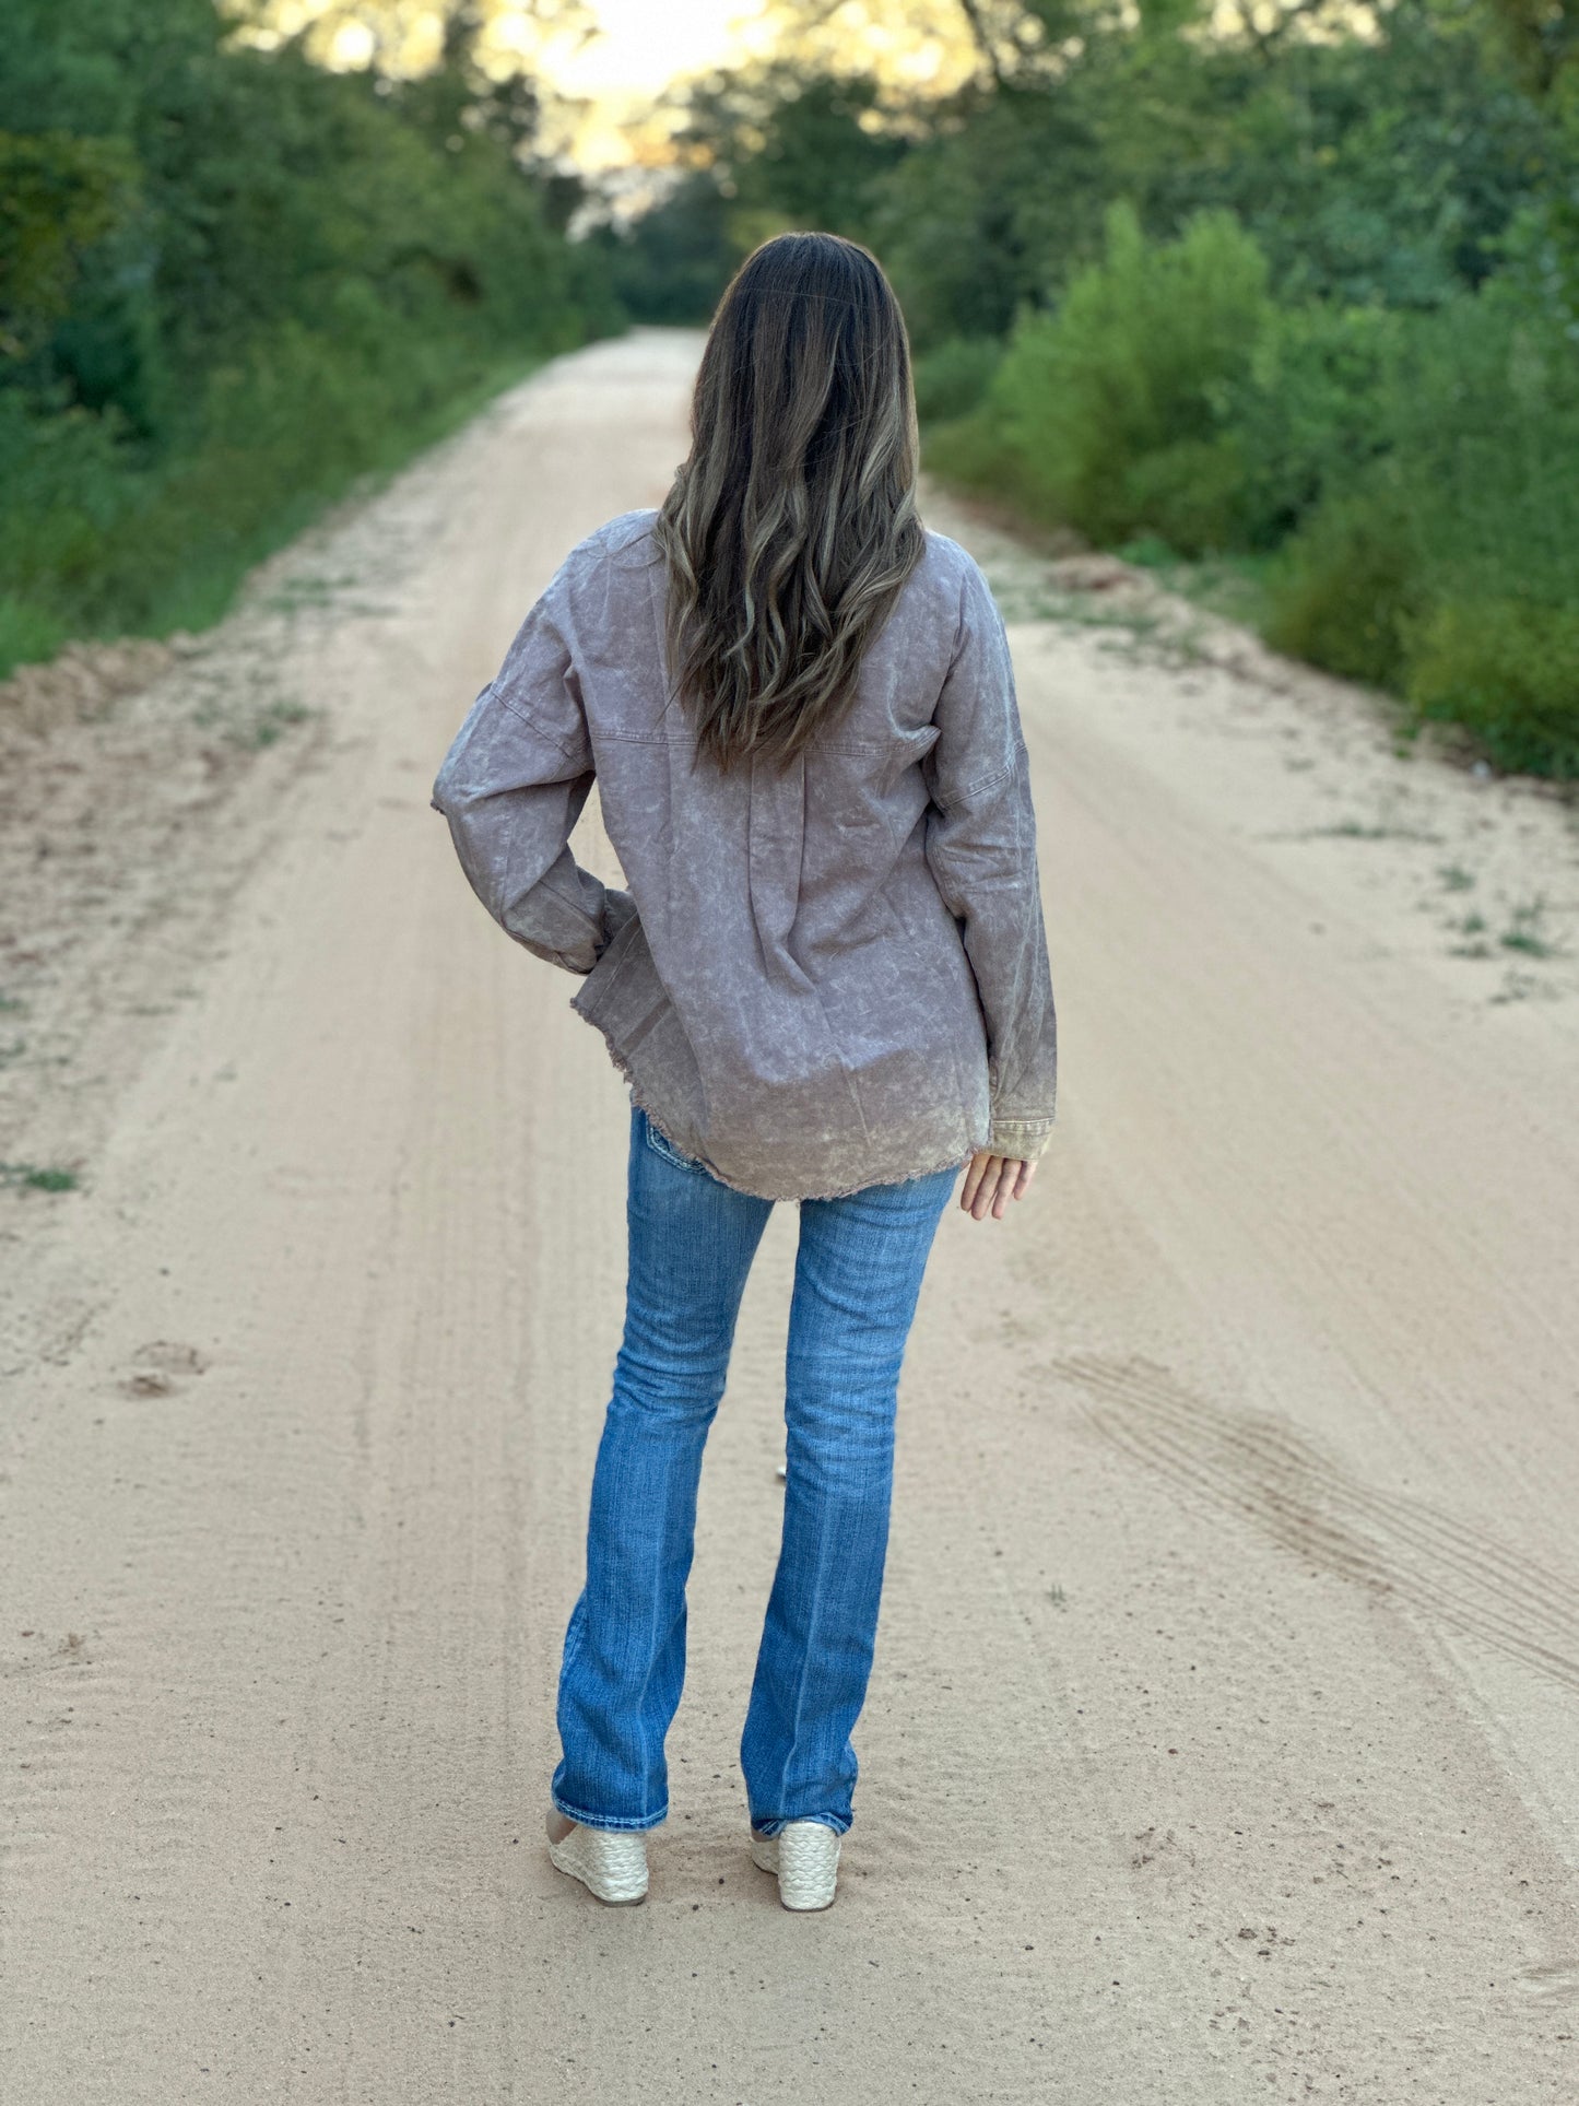
[(592, 777), (581, 687), (545, 594), (474, 701), (432, 802), (488, 914), (571, 973), (589, 973), (636, 912), (629, 893), (600, 885), (571, 855)]

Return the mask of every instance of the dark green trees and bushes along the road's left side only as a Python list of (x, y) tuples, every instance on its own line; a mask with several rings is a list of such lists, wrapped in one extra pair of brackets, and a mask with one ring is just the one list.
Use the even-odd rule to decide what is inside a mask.
[(0, 8), (0, 676), (217, 619), (358, 478), (619, 326), (474, 36), (455, 11), (396, 82), (213, 0)]

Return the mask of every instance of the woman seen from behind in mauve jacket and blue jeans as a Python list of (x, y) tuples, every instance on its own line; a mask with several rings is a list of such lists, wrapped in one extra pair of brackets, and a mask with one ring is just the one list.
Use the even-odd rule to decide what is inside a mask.
[[(718, 307), (659, 512), (571, 552), (434, 786), (472, 887), (632, 1085), (629, 1280), (560, 1670), (549, 1855), (646, 1893), (701, 1451), (773, 1203), (800, 1203), (783, 1546), (741, 1765), (752, 1857), (834, 1900), (899, 1363), (954, 1179), (1023, 1198), (1055, 1024), (1008, 647), (916, 516), (899, 305), (783, 234)], [(571, 855), (598, 779), (627, 891)]]

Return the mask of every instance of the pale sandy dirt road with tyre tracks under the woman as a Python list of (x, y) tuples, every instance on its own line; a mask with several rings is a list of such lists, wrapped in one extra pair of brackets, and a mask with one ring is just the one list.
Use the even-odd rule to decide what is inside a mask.
[(549, 1870), (625, 1097), (427, 786), (564, 548), (663, 491), (693, 356), (549, 369), (276, 567), (211, 703), (276, 653), (312, 716), (179, 826), (53, 748), (27, 826), (122, 853), (76, 952), (0, 952), (57, 1064), (0, 1154), (82, 1156), (0, 1190), (6, 2106), (1573, 2106), (1573, 832), (1038, 609), (990, 533), (1065, 1093), (922, 1299), (842, 1898), (777, 1908), (733, 1763), (790, 1209), (653, 1898)]

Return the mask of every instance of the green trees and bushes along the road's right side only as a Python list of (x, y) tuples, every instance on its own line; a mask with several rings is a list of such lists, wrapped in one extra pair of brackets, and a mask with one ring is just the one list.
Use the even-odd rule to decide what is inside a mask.
[(865, 240), (937, 474), (1579, 777), (1571, 0), (962, 13), (945, 105), (794, 40), (695, 91), (693, 173), (604, 238), (625, 305), (705, 318), (775, 227)]

